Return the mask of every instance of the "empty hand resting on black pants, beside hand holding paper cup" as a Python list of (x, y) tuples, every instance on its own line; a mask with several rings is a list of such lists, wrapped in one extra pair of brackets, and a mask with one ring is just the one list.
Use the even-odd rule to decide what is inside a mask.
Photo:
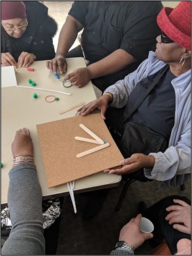
[[(191, 205), (179, 199), (173, 199), (173, 202), (176, 205), (168, 206), (166, 209), (166, 211), (171, 211), (166, 216), (166, 220), (179, 232), (191, 234)], [(184, 225), (180, 223), (184, 223)]]

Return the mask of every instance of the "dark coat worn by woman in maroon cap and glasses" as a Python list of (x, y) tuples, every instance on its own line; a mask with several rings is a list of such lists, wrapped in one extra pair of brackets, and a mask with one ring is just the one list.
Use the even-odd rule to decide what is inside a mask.
[(47, 6), (38, 1), (24, 1), (28, 27), (21, 38), (13, 38), (1, 25), (1, 53), (10, 52), (15, 61), (22, 52), (35, 54), (37, 61), (53, 59), (53, 37), (57, 31), (56, 21), (48, 15)]

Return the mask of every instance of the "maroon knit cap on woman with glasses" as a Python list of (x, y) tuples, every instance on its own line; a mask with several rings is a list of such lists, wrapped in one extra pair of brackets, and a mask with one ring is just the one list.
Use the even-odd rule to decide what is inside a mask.
[(22, 1), (1, 1), (1, 20), (26, 17), (26, 8)]

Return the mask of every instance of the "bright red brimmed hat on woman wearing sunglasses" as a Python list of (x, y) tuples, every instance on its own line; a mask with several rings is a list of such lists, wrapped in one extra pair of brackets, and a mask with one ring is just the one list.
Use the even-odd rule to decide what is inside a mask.
[(157, 24), (175, 43), (191, 50), (191, 1), (181, 1), (174, 9), (164, 7)]

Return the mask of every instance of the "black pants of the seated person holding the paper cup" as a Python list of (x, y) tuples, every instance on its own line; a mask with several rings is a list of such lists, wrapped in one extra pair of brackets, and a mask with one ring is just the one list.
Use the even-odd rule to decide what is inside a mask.
[(173, 199), (181, 199), (191, 205), (191, 201), (188, 198), (180, 197), (179, 195), (171, 195), (150, 206), (143, 214), (143, 217), (150, 219), (154, 224), (154, 231), (152, 232), (154, 239), (165, 239), (171, 253), (175, 255), (175, 253), (177, 253), (177, 242), (184, 238), (191, 239), (191, 235), (174, 229), (172, 227), (173, 225), (168, 224), (168, 220), (165, 219), (169, 213), (166, 211), (166, 208), (175, 204)]

